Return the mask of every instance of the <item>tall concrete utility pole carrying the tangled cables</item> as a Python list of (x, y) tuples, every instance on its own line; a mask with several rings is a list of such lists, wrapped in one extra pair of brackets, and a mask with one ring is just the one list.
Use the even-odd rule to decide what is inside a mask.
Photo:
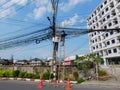
[(51, 0), (52, 3), (52, 26), (51, 29), (53, 30), (53, 61), (52, 61), (52, 70), (54, 75), (54, 80), (57, 80), (57, 54), (58, 54), (58, 42), (59, 38), (56, 35), (56, 15), (57, 15), (57, 8), (58, 8), (59, 0)]

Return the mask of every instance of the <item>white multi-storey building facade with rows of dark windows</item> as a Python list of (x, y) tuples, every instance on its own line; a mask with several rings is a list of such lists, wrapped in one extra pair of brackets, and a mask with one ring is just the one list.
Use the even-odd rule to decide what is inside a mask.
[[(103, 0), (87, 18), (88, 29), (120, 28), (120, 0)], [(120, 64), (120, 32), (89, 33), (90, 52), (101, 55), (104, 65)]]

